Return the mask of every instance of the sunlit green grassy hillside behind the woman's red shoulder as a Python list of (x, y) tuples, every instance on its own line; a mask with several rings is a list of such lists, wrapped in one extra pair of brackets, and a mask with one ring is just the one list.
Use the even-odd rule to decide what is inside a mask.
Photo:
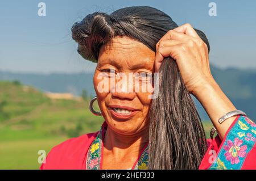
[[(19, 82), (0, 82), (0, 169), (38, 169), (38, 150), (98, 131), (103, 120), (88, 101), (49, 99)], [(211, 124), (204, 125), (209, 135)]]

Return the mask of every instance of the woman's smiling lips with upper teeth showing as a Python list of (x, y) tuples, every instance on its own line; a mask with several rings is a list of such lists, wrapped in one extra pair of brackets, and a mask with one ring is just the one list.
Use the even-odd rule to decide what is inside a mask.
[(109, 106), (110, 112), (113, 117), (116, 119), (127, 120), (133, 117), (139, 110), (128, 107), (128, 106), (119, 106), (119, 105), (112, 105)]

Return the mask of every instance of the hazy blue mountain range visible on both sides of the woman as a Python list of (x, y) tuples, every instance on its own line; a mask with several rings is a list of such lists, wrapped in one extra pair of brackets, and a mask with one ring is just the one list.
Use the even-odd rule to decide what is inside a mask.
[[(256, 120), (256, 70), (237, 68), (220, 69), (211, 66), (213, 77), (237, 109), (243, 110), (251, 119)], [(0, 80), (18, 80), (42, 91), (71, 92), (81, 95), (83, 89), (95, 95), (93, 73), (11, 73), (0, 71)], [(201, 104), (195, 100), (202, 119), (209, 119)]]

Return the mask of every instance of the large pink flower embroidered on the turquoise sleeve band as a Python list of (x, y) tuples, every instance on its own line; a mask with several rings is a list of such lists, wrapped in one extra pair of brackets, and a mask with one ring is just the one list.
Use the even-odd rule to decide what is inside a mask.
[(226, 153), (224, 154), (227, 161), (230, 161), (232, 165), (240, 162), (239, 157), (243, 158), (246, 155), (247, 145), (241, 146), (243, 140), (234, 138), (234, 143), (231, 140), (227, 141), (227, 145), (224, 146)]

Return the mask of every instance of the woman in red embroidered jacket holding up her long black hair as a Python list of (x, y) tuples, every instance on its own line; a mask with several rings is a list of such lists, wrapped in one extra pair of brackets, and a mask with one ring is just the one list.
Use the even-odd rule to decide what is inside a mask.
[[(72, 37), (81, 56), (97, 62), (90, 108), (105, 122), (55, 146), (40, 169), (256, 169), (256, 125), (214, 81), (203, 32), (152, 7), (127, 7), (86, 16)], [(212, 140), (189, 94), (214, 125)]]

